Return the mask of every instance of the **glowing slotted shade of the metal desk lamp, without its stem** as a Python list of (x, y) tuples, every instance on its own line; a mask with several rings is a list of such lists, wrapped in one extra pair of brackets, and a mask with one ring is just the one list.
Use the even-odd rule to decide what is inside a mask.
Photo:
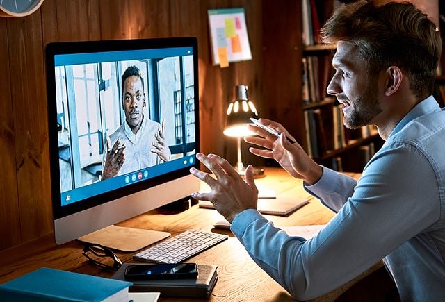
[(232, 137), (244, 137), (254, 135), (248, 130), (250, 117), (258, 117), (257, 108), (248, 98), (248, 87), (238, 85), (235, 87), (236, 99), (227, 108), (227, 123), (224, 128), (224, 135)]

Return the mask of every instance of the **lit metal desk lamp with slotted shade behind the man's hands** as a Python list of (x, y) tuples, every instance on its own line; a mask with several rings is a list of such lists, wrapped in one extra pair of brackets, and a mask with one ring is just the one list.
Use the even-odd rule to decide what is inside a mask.
[[(258, 118), (257, 108), (248, 98), (248, 86), (238, 85), (235, 87), (235, 100), (227, 108), (227, 124), (223, 133), (230, 137), (236, 137), (238, 160), (234, 168), (241, 175), (245, 173), (245, 167), (241, 160), (241, 137), (255, 134), (248, 130), (248, 124), (251, 123), (250, 117)], [(262, 174), (264, 174), (264, 169), (254, 169), (254, 176)]]

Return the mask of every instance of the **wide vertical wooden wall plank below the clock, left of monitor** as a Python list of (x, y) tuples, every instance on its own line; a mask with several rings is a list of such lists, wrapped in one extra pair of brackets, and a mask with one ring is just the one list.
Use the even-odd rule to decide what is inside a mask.
[(40, 10), (8, 19), (7, 36), (20, 212), (15, 236), (26, 242), (52, 230)]

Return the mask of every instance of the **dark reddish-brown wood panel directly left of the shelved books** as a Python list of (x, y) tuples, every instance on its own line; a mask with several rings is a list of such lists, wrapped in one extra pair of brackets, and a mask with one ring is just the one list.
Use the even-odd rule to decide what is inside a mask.
[[(301, 1), (263, 0), (264, 12), (264, 106), (270, 117), (279, 121), (304, 142), (301, 101)], [(284, 14), (283, 12), (292, 12)], [(282, 15), (281, 18), (276, 16)], [(275, 16), (275, 17), (271, 17)], [(285, 75), (285, 76), (283, 76)]]

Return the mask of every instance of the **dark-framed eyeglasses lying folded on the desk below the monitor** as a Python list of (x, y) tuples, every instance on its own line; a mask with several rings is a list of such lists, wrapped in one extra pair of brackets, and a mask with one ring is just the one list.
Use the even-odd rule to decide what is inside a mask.
[[(118, 269), (122, 266), (122, 261), (111, 249), (100, 244), (86, 244), (83, 248), (84, 255), (93, 265), (102, 269)], [(113, 262), (113, 264), (111, 264)]]

